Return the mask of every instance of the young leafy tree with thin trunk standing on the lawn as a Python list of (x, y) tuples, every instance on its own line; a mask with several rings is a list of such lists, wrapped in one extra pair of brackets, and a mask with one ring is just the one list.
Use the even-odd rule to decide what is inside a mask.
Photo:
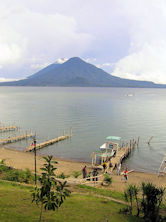
[(32, 202), (36, 202), (37, 205), (40, 204), (40, 218), (42, 219), (43, 208), (45, 210), (53, 210), (58, 209), (65, 198), (69, 196), (70, 191), (66, 189), (66, 181), (60, 182), (55, 179), (54, 171), (57, 169), (53, 164), (57, 164), (56, 161), (52, 160), (52, 156), (43, 157), (46, 161), (43, 164), (43, 171), (41, 176), (39, 177), (40, 187), (36, 187), (33, 192)]

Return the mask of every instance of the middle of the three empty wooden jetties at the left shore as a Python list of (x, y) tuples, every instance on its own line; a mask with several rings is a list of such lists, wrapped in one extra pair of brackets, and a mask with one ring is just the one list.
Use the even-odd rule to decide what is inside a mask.
[(21, 135), (21, 133), (19, 133), (19, 136), (14, 136), (14, 137), (8, 137), (8, 138), (5, 138), (5, 139), (1, 139), (0, 140), (0, 144), (1, 145), (5, 145), (5, 144), (9, 144), (9, 143), (14, 143), (14, 142), (17, 142), (17, 141), (20, 141), (20, 140), (24, 140), (24, 139), (27, 139), (27, 138), (31, 138), (31, 137), (34, 137), (35, 134), (33, 134), (32, 132), (30, 132), (29, 134), (26, 132)]

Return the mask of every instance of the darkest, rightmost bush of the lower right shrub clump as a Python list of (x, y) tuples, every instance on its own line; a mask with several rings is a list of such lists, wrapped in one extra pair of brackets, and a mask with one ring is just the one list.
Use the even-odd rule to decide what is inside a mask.
[(152, 222), (159, 221), (159, 210), (162, 203), (164, 188), (157, 188), (152, 183), (142, 183), (142, 211), (144, 218)]

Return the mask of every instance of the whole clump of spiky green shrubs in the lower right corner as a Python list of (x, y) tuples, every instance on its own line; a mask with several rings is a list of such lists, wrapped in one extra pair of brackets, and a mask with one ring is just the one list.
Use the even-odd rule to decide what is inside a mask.
[[(160, 222), (166, 221), (166, 217), (162, 217), (162, 206), (164, 188), (158, 188), (152, 183), (142, 183), (139, 188), (135, 185), (129, 185), (124, 192), (125, 200), (130, 203), (129, 208), (126, 207), (121, 212), (130, 215), (133, 214), (133, 210), (137, 209), (137, 217), (140, 215), (145, 221)], [(138, 199), (138, 195), (141, 196)]]

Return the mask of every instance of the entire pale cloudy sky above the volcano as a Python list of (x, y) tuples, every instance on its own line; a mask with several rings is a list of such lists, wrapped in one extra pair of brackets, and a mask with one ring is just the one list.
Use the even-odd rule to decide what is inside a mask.
[(166, 84), (166, 0), (0, 0), (0, 81), (75, 56)]

